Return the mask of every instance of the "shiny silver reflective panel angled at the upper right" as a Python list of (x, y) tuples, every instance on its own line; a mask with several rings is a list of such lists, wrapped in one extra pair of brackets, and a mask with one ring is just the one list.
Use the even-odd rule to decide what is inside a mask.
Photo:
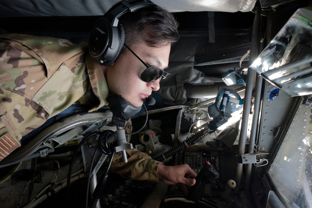
[(312, 94), (312, 11), (300, 8), (250, 65), (291, 96)]

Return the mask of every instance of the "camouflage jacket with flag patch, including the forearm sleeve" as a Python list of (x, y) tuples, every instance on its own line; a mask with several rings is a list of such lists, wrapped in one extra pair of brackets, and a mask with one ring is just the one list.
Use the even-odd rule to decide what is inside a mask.
[[(22, 34), (0, 36), (0, 160), (20, 147), (19, 141), (72, 104), (92, 104), (89, 112), (108, 105), (102, 69), (78, 45)], [(159, 162), (135, 149), (129, 162), (116, 155), (111, 170), (136, 180), (158, 181)]]

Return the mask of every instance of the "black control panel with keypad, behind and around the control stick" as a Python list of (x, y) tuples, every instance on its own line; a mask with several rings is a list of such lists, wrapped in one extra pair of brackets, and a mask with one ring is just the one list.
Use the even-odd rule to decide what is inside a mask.
[[(234, 151), (225, 150), (204, 150), (204, 151), (186, 151), (181, 153), (176, 159), (176, 165), (188, 164), (197, 174), (201, 172), (206, 164), (210, 164), (217, 172), (219, 177), (205, 184), (201, 190), (201, 200), (190, 201), (180, 186), (170, 185), (167, 188), (166, 195), (161, 207), (172, 207), (173, 203), (183, 201), (181, 206), (186, 207), (253, 207), (250, 203), (248, 192), (233, 192), (229, 187), (229, 181), (233, 181), (235, 175), (235, 155)], [(190, 191), (191, 189), (189, 189)], [(177, 197), (180, 197), (177, 200)]]

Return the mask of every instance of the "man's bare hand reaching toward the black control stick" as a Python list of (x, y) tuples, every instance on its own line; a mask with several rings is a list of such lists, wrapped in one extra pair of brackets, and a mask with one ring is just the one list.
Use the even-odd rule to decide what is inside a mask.
[(176, 166), (160, 164), (157, 176), (160, 181), (169, 185), (185, 184), (186, 186), (193, 186), (196, 183), (197, 174), (187, 164)]

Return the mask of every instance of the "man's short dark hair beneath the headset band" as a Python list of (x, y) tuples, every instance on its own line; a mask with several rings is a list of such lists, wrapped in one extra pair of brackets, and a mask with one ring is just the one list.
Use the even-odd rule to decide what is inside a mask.
[(159, 6), (128, 12), (119, 18), (125, 28), (125, 44), (145, 42), (147, 46), (161, 47), (179, 40), (178, 23), (174, 16)]

